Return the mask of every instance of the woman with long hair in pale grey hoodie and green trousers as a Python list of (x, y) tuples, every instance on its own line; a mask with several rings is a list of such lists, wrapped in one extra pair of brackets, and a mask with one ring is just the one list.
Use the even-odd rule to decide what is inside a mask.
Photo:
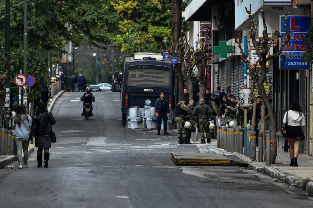
[(24, 152), (24, 168), (28, 167), (28, 144), (31, 125), (32, 118), (27, 114), (26, 106), (18, 106), (17, 114), (12, 123), (12, 128), (14, 129), (13, 137), (18, 154), (18, 168), (23, 168), (22, 149)]

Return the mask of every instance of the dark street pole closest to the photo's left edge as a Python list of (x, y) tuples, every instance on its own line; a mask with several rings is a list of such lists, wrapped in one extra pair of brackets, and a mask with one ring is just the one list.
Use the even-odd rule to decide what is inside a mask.
[[(4, 101), (4, 128), (9, 128), (10, 123), (10, 0), (5, 0), (5, 26), (4, 26), (4, 42), (5, 42), (5, 68), (4, 71), (8, 69), (7, 73), (7, 85), (6, 85), (6, 97)], [(1, 125), (2, 127), (2, 125)]]

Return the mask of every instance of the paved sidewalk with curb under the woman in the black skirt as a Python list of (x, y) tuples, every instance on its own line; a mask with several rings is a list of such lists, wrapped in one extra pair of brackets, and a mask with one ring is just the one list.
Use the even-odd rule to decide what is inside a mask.
[[(257, 148), (258, 149), (258, 148)], [(203, 151), (202, 151), (203, 152)], [(290, 186), (295, 186), (302, 189), (302, 181), (305, 178), (310, 178), (313, 180), (313, 157), (306, 154), (299, 154), (298, 165), (299, 167), (291, 167), (289, 152), (277, 152), (276, 164), (271, 166), (266, 166), (265, 162), (258, 162), (258, 152), (256, 153), (256, 160), (252, 161), (249, 157), (244, 156), (244, 154), (239, 154), (237, 152), (227, 152), (221, 148), (207, 147), (207, 152), (209, 154), (222, 154), (222, 155), (232, 155), (239, 157), (243, 161), (249, 163), (249, 168), (255, 171), (267, 174), (273, 178), (276, 178)], [(308, 182), (305, 186), (305, 191), (313, 194), (313, 182)]]

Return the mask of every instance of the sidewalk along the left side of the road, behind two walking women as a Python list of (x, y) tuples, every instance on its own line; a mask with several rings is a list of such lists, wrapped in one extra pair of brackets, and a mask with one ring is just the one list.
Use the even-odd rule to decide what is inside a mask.
[[(55, 101), (63, 94), (63, 92), (64, 91), (59, 92), (58, 94), (56, 94), (54, 96), (52, 101), (49, 101), (49, 103), (48, 103), (48, 111), (51, 111)], [(35, 148), (36, 148), (35, 144), (29, 143), (29, 145), (28, 145), (28, 154), (33, 152), (33, 151), (35, 151)], [(0, 169), (3, 169), (4, 167), (9, 165), (10, 163), (16, 162), (16, 161), (18, 161), (18, 156), (17, 155), (1, 155), (0, 156)]]

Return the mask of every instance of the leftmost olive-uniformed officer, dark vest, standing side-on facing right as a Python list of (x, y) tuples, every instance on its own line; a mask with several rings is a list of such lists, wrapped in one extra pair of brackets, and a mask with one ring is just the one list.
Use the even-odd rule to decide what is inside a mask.
[(182, 98), (175, 105), (176, 122), (177, 122), (177, 129), (178, 129), (177, 137), (178, 137), (179, 144), (183, 144), (184, 142), (187, 143), (187, 129), (184, 128), (184, 126), (182, 125), (182, 122), (185, 119), (186, 115), (190, 112), (190, 110), (188, 107), (186, 107), (185, 103), (186, 103), (185, 98)]

